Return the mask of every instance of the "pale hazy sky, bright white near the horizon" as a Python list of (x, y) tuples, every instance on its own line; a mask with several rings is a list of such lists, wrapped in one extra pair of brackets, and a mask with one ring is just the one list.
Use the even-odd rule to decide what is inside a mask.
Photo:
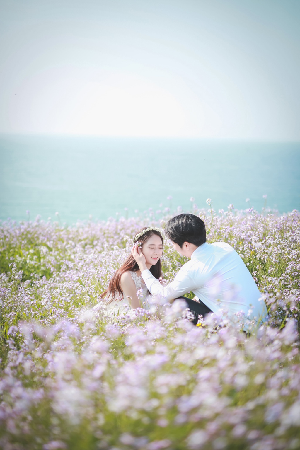
[(0, 0), (0, 132), (300, 139), (299, 0)]

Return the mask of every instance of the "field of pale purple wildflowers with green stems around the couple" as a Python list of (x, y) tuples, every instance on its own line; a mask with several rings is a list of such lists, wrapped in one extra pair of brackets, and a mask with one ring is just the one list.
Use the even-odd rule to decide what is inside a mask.
[[(213, 315), (195, 327), (180, 302), (92, 309), (136, 231), (168, 211), (0, 224), (1, 449), (300, 449), (300, 213), (193, 212), (263, 294), (252, 335)], [(165, 239), (166, 281), (183, 263)]]

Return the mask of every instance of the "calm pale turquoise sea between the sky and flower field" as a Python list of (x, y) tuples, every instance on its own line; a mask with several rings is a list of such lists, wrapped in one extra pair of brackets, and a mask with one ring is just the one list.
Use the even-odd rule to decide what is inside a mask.
[(280, 213), (300, 209), (300, 143), (1, 135), (0, 161), (1, 220), (58, 211), (71, 225), (189, 210), (190, 197), (198, 207), (211, 198), (216, 211), (260, 211), (264, 194)]

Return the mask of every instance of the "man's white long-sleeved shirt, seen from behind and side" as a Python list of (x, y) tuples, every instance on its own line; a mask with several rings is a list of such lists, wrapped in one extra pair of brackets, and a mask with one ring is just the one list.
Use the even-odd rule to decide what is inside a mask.
[(229, 318), (240, 311), (250, 320), (264, 320), (267, 315), (264, 301), (259, 301), (261, 293), (242, 258), (224, 242), (197, 247), (190, 261), (165, 287), (150, 270), (143, 270), (142, 278), (152, 295), (162, 301), (193, 291), (217, 315), (223, 315), (219, 312), (221, 308)]

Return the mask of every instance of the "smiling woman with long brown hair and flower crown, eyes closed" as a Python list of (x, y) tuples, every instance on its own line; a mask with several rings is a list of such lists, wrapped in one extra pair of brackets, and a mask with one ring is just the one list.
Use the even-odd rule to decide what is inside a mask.
[[(146, 266), (152, 275), (161, 277), (161, 255), (163, 238), (159, 228), (144, 227), (134, 236), (134, 244), (138, 244), (146, 258)], [(138, 292), (139, 291), (139, 292)], [(108, 288), (101, 296), (107, 299), (107, 305), (115, 306), (120, 301), (129, 304), (131, 308), (148, 308), (148, 289), (143, 282), (141, 272), (134, 257), (130, 256), (116, 271), (108, 284)], [(141, 301), (139, 299), (141, 297)]]

